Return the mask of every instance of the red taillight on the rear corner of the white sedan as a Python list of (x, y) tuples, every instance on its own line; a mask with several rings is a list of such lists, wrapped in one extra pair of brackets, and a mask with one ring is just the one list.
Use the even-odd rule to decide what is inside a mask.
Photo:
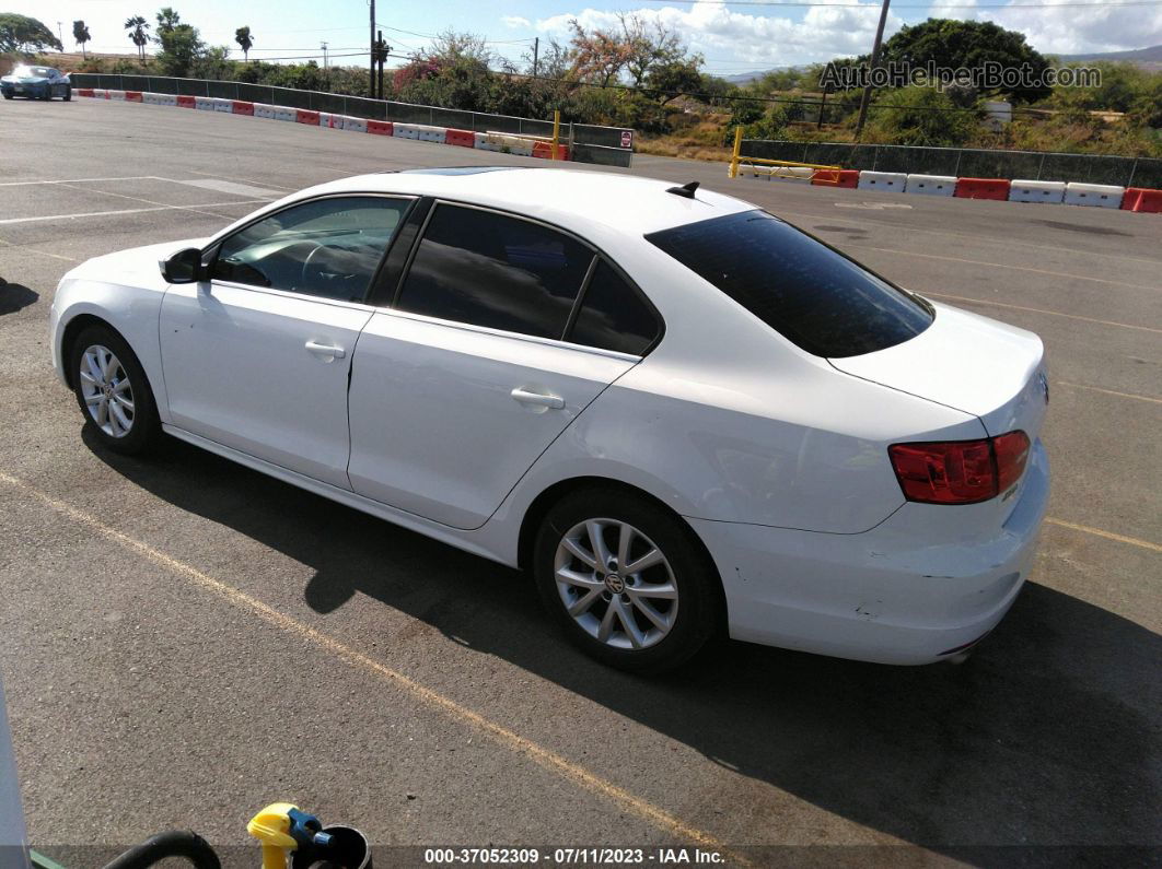
[(1020, 479), (1028, 447), (1024, 432), (1010, 432), (980, 441), (895, 443), (888, 454), (908, 500), (977, 504)]

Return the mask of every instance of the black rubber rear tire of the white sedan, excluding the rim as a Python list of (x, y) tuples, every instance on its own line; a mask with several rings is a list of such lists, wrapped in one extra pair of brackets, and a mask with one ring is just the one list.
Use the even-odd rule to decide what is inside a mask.
[[(637, 544), (653, 545), (662, 552), (668, 563), (669, 574), (677, 588), (676, 601), (661, 601), (661, 606), (675, 606), (668, 632), (652, 645), (640, 649), (619, 649), (597, 639), (573, 616), (569, 615), (562, 592), (557, 582), (558, 546), (571, 529), (588, 520), (604, 519), (612, 522), (624, 522), (637, 531)], [(612, 549), (611, 544), (610, 548)], [(591, 552), (593, 546), (588, 550)], [(643, 550), (638, 550), (640, 553)], [(632, 560), (632, 557), (631, 559)], [(575, 563), (581, 570), (584, 565)], [(665, 571), (666, 567), (652, 570)], [(545, 519), (533, 544), (532, 573), (540, 599), (552, 616), (561, 625), (566, 636), (589, 656), (597, 660), (634, 673), (662, 673), (681, 666), (715, 636), (720, 624), (722, 581), (718, 578), (713, 562), (706, 555), (702, 544), (684, 522), (653, 501), (634, 494), (632, 491), (616, 486), (578, 490), (554, 505)], [(657, 575), (657, 574), (654, 574)], [(657, 579), (645, 579), (646, 571), (636, 578), (621, 578), (619, 582), (632, 586), (634, 582), (657, 582)], [(615, 577), (616, 578), (616, 577)], [(569, 589), (565, 594), (582, 592)], [(614, 594), (601, 592), (603, 601), (593, 604), (593, 621), (600, 621), (596, 609), (604, 602), (612, 604)], [(634, 608), (629, 596), (632, 589), (618, 595), (626, 601), (625, 608), (633, 614), (639, 627), (648, 631), (650, 622)], [(657, 609), (657, 607), (655, 607)], [(605, 611), (605, 610), (602, 610)], [(590, 623), (590, 629), (593, 624)], [(623, 630), (627, 642), (627, 633)]]

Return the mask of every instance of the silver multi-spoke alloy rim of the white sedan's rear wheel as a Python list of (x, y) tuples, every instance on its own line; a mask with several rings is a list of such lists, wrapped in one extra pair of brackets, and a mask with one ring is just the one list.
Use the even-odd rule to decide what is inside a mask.
[(653, 541), (627, 522), (590, 519), (557, 546), (557, 591), (589, 636), (615, 649), (660, 643), (677, 617), (677, 584)]

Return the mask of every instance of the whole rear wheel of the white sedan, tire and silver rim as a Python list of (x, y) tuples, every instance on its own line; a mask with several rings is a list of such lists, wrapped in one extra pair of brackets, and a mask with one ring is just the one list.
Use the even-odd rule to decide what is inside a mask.
[(569, 639), (621, 669), (677, 667), (718, 624), (717, 571), (689, 528), (612, 487), (574, 492), (548, 512), (533, 573)]

